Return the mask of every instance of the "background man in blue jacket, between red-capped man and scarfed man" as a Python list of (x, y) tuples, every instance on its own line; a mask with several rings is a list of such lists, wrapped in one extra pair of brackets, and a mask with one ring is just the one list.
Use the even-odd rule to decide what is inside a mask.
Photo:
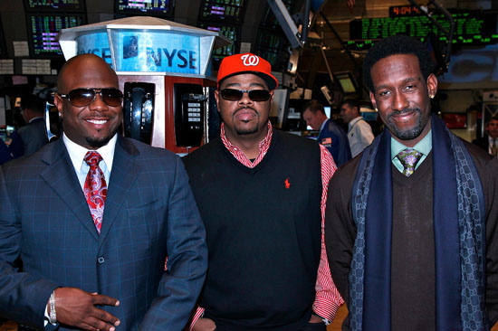
[(339, 125), (335, 124), (325, 115), (323, 105), (317, 100), (311, 100), (304, 106), (302, 119), (306, 121), (313, 130), (320, 130), (317, 141), (329, 149), (336, 165), (345, 164), (351, 159), (348, 137)]

